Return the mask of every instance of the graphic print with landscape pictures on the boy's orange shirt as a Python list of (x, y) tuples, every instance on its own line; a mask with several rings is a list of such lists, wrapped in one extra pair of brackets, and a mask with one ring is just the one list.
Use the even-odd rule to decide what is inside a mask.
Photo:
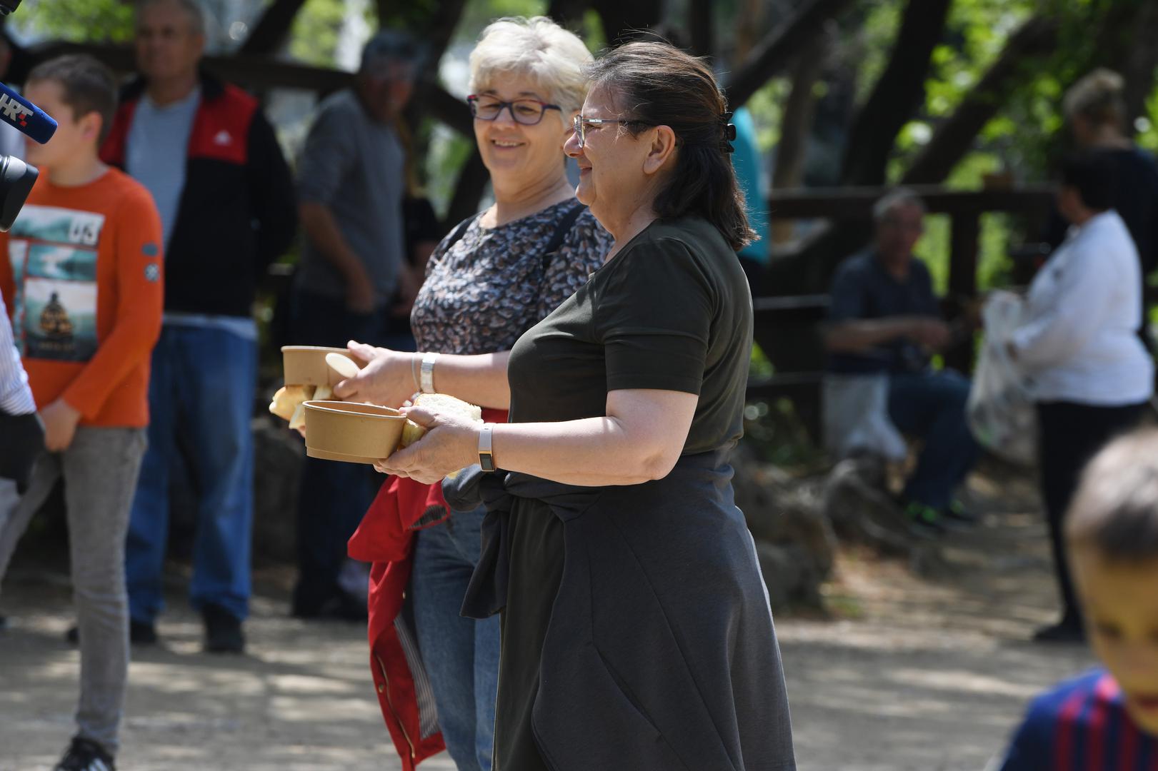
[(24, 206), (8, 232), (13, 332), (23, 357), (88, 361), (96, 352), (96, 245), (104, 215)]

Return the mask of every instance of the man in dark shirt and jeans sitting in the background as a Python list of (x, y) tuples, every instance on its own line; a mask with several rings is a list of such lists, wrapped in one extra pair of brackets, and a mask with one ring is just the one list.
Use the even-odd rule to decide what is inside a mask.
[[(873, 383), (885, 389), (878, 409), (887, 412), (887, 420), (875, 416), (878, 431), (870, 433), (893, 447), (900, 445), (896, 432), (924, 441), (901, 502), (917, 528), (936, 534), (947, 520), (968, 519), (953, 500), (953, 490), (973, 467), (977, 449), (965, 413), (969, 381), (930, 367), (931, 354), (948, 347), (953, 336), (940, 317), (929, 269), (913, 256), (924, 214), (921, 199), (904, 189), (877, 203), (872, 245), (841, 264), (833, 279), (824, 345), (833, 381), (853, 384), (862, 394)], [(831, 394), (826, 383), (826, 420), (837, 412)]]

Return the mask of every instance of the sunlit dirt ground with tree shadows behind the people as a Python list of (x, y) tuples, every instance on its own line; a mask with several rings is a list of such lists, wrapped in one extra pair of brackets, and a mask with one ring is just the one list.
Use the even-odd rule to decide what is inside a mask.
[[(1082, 648), (1024, 641), (1054, 602), (1032, 491), (974, 479), (972, 492), (984, 524), (945, 538), (921, 559), (921, 578), (845, 550), (828, 592), (838, 618), (778, 619), (801, 771), (980, 771), (1028, 698), (1090, 664)], [(198, 651), (200, 626), (174, 577), (163, 647), (133, 652), (118, 768), (400, 768), (361, 630), (287, 618), (287, 578), (258, 574), (250, 652), (219, 658)], [(63, 639), (61, 566), (24, 556), (2, 607), (0, 770), (49, 769), (71, 734), (78, 666)], [(454, 765), (444, 755), (422, 768)]]

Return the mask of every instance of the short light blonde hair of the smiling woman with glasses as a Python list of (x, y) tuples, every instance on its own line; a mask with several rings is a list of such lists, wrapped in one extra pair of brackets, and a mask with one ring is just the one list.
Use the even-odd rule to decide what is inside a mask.
[(504, 75), (529, 75), (549, 101), (563, 108), (566, 123), (587, 96), (584, 67), (592, 60), (577, 35), (547, 16), (499, 19), (483, 30), (470, 52), (470, 93), (493, 87)]

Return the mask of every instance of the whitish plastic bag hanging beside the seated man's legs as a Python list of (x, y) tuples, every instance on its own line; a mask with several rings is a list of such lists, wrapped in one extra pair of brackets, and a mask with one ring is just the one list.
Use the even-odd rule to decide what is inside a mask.
[(888, 375), (824, 375), (824, 446), (836, 460), (868, 453), (904, 460), (901, 432), (888, 418)]

